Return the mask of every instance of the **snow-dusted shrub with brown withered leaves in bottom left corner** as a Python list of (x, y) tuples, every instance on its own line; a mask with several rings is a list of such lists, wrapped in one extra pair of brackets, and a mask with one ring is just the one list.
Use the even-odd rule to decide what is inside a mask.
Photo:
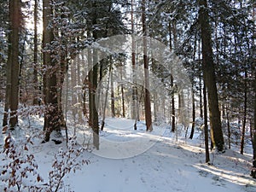
[(6, 164), (0, 168), (0, 180), (6, 183), (4, 191), (15, 188), (16, 191), (37, 191), (38, 184), (43, 182), (37, 171), (35, 157), (29, 153), (28, 144), (32, 144), (30, 137), (24, 144), (16, 144), (10, 134), (5, 138), (2, 153)]

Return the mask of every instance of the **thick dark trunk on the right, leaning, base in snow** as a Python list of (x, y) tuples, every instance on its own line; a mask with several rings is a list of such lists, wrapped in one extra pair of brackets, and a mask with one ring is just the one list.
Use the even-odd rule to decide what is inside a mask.
[(202, 68), (203, 78), (207, 86), (212, 144), (219, 152), (224, 152), (224, 137), (218, 108), (218, 92), (214, 72), (211, 26), (209, 23), (207, 0), (200, 0), (199, 5), (199, 21), (201, 24), (202, 39)]

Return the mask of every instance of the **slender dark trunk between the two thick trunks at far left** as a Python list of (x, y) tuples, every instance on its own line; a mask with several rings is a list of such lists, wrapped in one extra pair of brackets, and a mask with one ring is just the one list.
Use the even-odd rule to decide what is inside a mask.
[(38, 98), (38, 0), (34, 4), (34, 67), (33, 67), (33, 85), (34, 85), (34, 98), (33, 104), (37, 105)]

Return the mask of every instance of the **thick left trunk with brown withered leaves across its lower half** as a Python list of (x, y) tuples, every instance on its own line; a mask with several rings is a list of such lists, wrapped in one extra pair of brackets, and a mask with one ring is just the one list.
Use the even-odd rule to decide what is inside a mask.
[[(44, 112), (44, 142), (49, 141), (49, 137), (52, 131), (61, 133), (61, 127), (63, 126), (64, 120), (60, 102), (61, 89), (59, 89), (64, 79), (62, 77), (61, 79), (57, 79), (57, 76), (60, 75), (60, 71), (58, 70), (62, 70), (62, 68), (59, 67), (61, 63), (57, 63), (56, 61), (52, 60), (53, 50), (50, 48), (50, 44), (54, 40), (53, 29), (49, 27), (49, 21), (51, 20), (52, 14), (53, 10), (51, 8), (51, 1), (44, 0), (43, 61), (44, 67), (46, 67), (46, 73), (44, 74), (44, 103), (48, 107)], [(65, 72), (61, 71), (61, 76), (63, 75), (62, 73)]]

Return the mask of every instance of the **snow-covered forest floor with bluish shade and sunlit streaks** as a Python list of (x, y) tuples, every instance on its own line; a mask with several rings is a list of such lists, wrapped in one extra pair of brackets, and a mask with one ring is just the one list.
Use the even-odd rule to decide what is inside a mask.
[[(193, 140), (185, 140), (171, 133), (167, 125), (154, 125), (154, 131), (145, 133), (143, 122), (138, 123), (137, 131), (133, 130), (133, 123), (131, 119), (107, 119), (106, 127), (100, 135), (99, 151), (91, 147), (92, 139), (88, 129), (86, 131), (84, 128), (83, 131), (82, 126), (77, 129), (79, 142), (75, 148), (79, 148), (81, 143), (87, 147), (78, 161), (88, 160), (89, 164), (67, 174), (60, 191), (256, 191), (256, 180), (249, 176), (251, 154), (241, 155), (236, 150), (229, 149), (224, 154), (212, 152), (212, 165), (209, 166), (204, 163), (205, 151), (198, 132)], [(38, 116), (31, 117), (29, 124), (27, 119), (20, 119), (20, 128), (13, 133), (15, 142), (19, 143), (19, 139), (29, 133), (37, 135), (40, 132), (37, 128), (42, 129), (42, 125), (42, 118)], [(1, 148), (4, 137), (6, 134), (1, 135)], [(28, 151), (35, 155), (38, 172), (44, 182), (47, 182), (55, 154), (59, 148), (65, 150), (67, 147), (65, 142), (55, 145), (52, 141), (41, 141), (42, 137), (33, 137), (33, 144), (28, 146)], [(1, 166), (7, 163), (3, 160), (3, 154), (1, 160)], [(27, 180), (29, 183), (29, 178)], [(1, 183), (0, 191), (3, 191), (3, 187), (4, 183)], [(16, 191), (15, 188), (13, 191)]]

